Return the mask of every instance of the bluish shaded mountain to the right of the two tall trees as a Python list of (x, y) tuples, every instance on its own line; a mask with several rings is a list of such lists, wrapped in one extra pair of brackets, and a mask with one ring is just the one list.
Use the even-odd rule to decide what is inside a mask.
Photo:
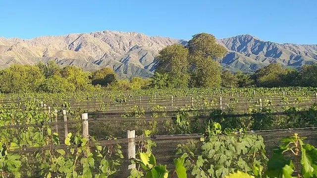
[(228, 49), (222, 66), (233, 71), (255, 71), (269, 63), (299, 68), (317, 62), (317, 45), (278, 44), (251, 35), (217, 40)]

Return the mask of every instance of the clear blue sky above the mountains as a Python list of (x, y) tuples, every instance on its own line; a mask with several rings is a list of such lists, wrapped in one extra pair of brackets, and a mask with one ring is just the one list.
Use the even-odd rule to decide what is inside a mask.
[(317, 44), (317, 0), (0, 0), (0, 24), (5, 38), (113, 30)]

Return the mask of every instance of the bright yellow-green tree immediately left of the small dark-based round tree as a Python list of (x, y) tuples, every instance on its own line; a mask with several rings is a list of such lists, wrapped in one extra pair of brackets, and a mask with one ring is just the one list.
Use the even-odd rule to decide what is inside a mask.
[(75, 86), (75, 90), (90, 90), (89, 73), (75, 66), (67, 66), (61, 70), (61, 76), (67, 80), (70, 85)]

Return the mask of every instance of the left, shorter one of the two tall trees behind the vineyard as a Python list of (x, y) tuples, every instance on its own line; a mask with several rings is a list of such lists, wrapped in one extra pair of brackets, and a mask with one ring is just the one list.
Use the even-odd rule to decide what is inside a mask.
[(188, 49), (183, 45), (166, 46), (159, 51), (156, 72), (167, 74), (172, 88), (186, 88), (189, 81)]

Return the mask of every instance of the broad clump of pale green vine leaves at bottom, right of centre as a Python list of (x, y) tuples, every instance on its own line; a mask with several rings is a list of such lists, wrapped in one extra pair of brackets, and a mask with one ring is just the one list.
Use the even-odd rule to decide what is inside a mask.
[[(266, 156), (261, 135), (226, 135), (221, 126), (212, 123), (202, 138), (201, 153), (193, 153), (186, 145), (178, 145), (176, 154), (186, 154), (185, 167), (196, 178), (223, 178), (236, 171), (256, 177), (264, 169)], [(196, 156), (198, 154), (198, 156)]]

